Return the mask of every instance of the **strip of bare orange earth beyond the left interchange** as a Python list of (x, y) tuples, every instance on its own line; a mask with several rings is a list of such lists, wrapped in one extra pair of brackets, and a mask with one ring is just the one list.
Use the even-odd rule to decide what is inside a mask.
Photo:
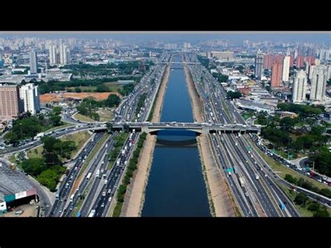
[(117, 96), (121, 96), (117, 92), (64, 92), (64, 93), (47, 93), (42, 94), (40, 96), (41, 103), (47, 103), (52, 101), (61, 101), (61, 99), (73, 98), (73, 99), (86, 99), (86, 98), (94, 98), (96, 100), (105, 100), (108, 98), (110, 94), (115, 94)]

